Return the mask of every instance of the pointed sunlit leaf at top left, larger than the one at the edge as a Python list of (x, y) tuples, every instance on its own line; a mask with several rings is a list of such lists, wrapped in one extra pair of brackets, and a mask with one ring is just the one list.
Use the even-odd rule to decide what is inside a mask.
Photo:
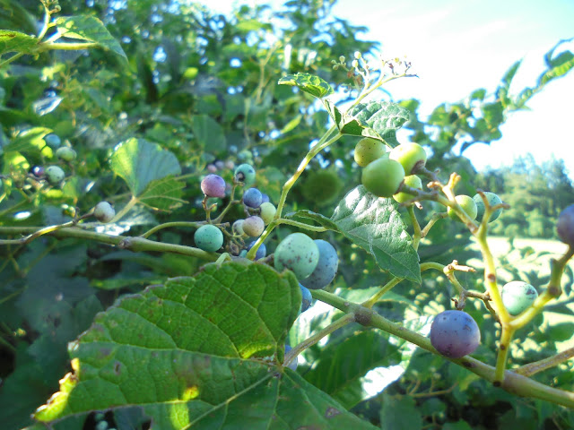
[(57, 30), (66, 38), (95, 42), (127, 60), (124, 49), (95, 16), (62, 16), (56, 20)]

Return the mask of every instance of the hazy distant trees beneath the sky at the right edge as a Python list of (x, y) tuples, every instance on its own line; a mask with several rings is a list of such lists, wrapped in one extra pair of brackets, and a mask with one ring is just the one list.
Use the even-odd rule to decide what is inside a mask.
[(500, 195), (510, 209), (491, 224), (491, 234), (557, 238), (556, 219), (574, 202), (574, 186), (564, 160), (552, 158), (537, 164), (532, 154), (511, 166), (488, 168), (477, 187)]

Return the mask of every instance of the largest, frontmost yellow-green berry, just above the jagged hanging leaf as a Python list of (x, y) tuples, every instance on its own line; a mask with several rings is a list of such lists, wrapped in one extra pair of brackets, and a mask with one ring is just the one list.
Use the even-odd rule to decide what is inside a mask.
[(362, 185), (378, 197), (390, 197), (404, 181), (404, 168), (394, 159), (376, 159), (362, 169)]

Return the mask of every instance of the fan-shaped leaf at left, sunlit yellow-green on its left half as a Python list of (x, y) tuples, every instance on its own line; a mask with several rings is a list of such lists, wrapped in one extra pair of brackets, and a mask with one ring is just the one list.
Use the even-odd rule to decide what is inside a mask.
[(110, 160), (111, 169), (121, 176), (135, 196), (140, 196), (157, 179), (181, 173), (178, 159), (160, 145), (128, 139), (120, 143)]

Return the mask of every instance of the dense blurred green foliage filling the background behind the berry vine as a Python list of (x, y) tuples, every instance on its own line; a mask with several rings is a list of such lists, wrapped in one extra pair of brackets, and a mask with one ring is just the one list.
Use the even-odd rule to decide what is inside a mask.
[[(344, 70), (333, 69), (331, 60), (354, 51), (378, 52), (377, 43), (360, 39), (366, 29), (330, 14), (333, 3), (291, 0), (279, 11), (241, 5), (230, 17), (201, 4), (170, 1), (62, 4), (63, 15), (99, 18), (119, 41), (119, 49), (44, 51), (0, 69), (0, 171), (12, 178), (0, 189), (0, 226), (61, 223), (71, 219), (74, 208), (83, 213), (102, 199), (126, 213), (122, 223), (111, 227), (117, 234), (136, 236), (168, 220), (200, 220), (200, 177), (209, 167), (230, 179), (230, 166), (240, 162), (256, 166), (257, 185), (276, 202), (309, 142), (328, 125), (323, 107), (293, 87), (278, 85), (279, 79), (313, 73), (332, 83), (345, 99), (344, 84), (352, 82)], [(2, 0), (0, 28), (37, 34), (41, 12), (36, 1)], [(3, 60), (10, 56), (2, 52)], [(510, 94), (517, 62), (498, 88), (478, 89), (464, 101), (441, 104), (428, 118), (417, 115), (417, 100), (399, 102), (412, 113), (404, 128), (432, 154), (430, 168), (461, 174), (460, 193), (472, 195), (480, 187), (509, 202), (511, 210), (493, 224), (494, 233), (553, 236), (554, 219), (571, 202), (571, 182), (560, 160), (539, 167), (528, 158), (475, 180), (464, 150), (500, 138), (507, 116), (526, 107), (552, 79), (568, 73), (573, 58), (560, 46), (552, 48), (537, 85)], [(390, 99), (382, 91), (379, 97)], [(56, 133), (78, 152), (77, 161), (62, 164), (68, 176), (62, 189), (29, 175), (34, 166), (57, 164), (44, 140), (48, 133)], [(119, 142), (123, 144), (117, 150)], [(291, 193), (288, 211), (333, 213), (344, 194), (360, 183), (352, 163), (355, 142), (345, 137), (313, 160)], [(156, 164), (134, 172), (130, 163), (138, 165), (136, 155)], [(230, 213), (229, 219), (240, 217)], [(444, 224), (420, 248), (422, 262), (465, 262), (477, 255), (462, 226), (439, 222)], [(278, 228), (274, 238), (290, 232)], [(192, 233), (189, 228), (170, 228), (155, 239), (193, 245)], [(358, 301), (386, 282), (388, 274), (343, 236), (321, 237), (335, 244), (341, 260), (334, 291)], [(98, 312), (166, 277), (191, 275), (200, 265), (185, 255), (136, 254), (77, 239), (41, 238), (25, 246), (3, 246), (0, 255), (0, 422), (5, 428), (32, 424), (30, 413), (57, 391), (58, 379), (70, 369), (67, 343), (88, 329)], [(518, 268), (512, 274), (535, 287), (547, 280), (544, 274)], [(480, 289), (481, 279), (479, 272), (465, 283)], [(560, 323), (544, 315), (520, 331), (512, 364), (547, 357), (570, 339), (574, 323), (563, 319), (572, 314), (569, 286), (568, 297), (552, 307), (561, 315)], [(449, 306), (454, 295), (450, 288), (444, 277), (425, 275), (422, 285), (402, 283), (389, 296), (394, 300), (382, 302), (377, 310), (409, 328), (422, 328)], [(496, 331), (478, 304), (469, 302), (465, 310), (483, 333)], [(291, 345), (340, 316), (331, 310), (300, 318), (289, 334)], [(483, 344), (493, 341), (487, 338)], [(485, 346), (476, 356), (494, 360)], [(326, 344), (306, 350), (303, 358), (298, 373), (305, 381), (383, 429), (574, 426), (574, 415), (566, 409), (517, 400), (381, 331), (348, 326)], [(396, 383), (382, 393), (366, 390), (365, 374), (388, 366), (399, 366), (394, 367)], [(556, 387), (571, 387), (568, 365), (540, 377)], [(142, 417), (134, 418), (131, 427), (120, 426), (129, 421), (121, 413), (107, 417), (118, 428), (145, 428)], [(94, 426), (93, 417), (83, 426)]]

